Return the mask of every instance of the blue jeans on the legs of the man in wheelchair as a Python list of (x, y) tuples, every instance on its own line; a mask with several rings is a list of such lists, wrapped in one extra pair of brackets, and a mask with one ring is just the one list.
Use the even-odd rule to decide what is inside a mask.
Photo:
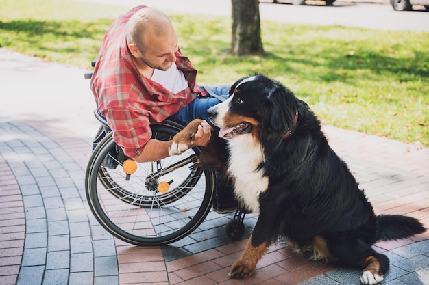
[[(225, 99), (229, 96), (230, 85), (206, 86), (206, 88), (210, 88), (213, 93)], [(191, 102), (191, 104), (184, 107), (184, 109), (178, 111), (173, 116), (169, 117), (169, 119), (179, 122), (184, 126), (194, 119), (206, 120), (209, 124), (211, 124), (210, 120), (208, 119), (207, 110), (219, 103), (219, 99), (210, 96), (210, 94), (203, 98), (196, 98)]]

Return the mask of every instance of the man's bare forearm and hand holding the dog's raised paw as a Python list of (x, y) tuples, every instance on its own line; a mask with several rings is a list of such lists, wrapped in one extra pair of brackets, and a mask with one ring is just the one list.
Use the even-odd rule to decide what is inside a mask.
[[(210, 125), (203, 121), (198, 126), (198, 131), (195, 133), (193, 140), (188, 144), (188, 148), (193, 148), (195, 146), (207, 146), (211, 138), (211, 128)], [(148, 161), (158, 161), (169, 157), (169, 146), (171, 141), (158, 141), (157, 139), (150, 139), (147, 141), (147, 144), (143, 148), (140, 155), (134, 158), (136, 162), (148, 162)]]

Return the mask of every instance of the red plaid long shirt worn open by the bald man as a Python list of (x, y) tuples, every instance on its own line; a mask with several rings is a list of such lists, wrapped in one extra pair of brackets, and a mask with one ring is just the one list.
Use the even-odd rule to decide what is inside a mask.
[(162, 85), (143, 77), (131, 59), (125, 37), (130, 17), (145, 6), (120, 16), (101, 42), (91, 78), (91, 90), (99, 111), (106, 116), (114, 141), (130, 157), (138, 157), (151, 138), (150, 125), (177, 113), (201, 93), (195, 82), (197, 70), (180, 50), (175, 53), (177, 68), (182, 70), (188, 88), (174, 94)]

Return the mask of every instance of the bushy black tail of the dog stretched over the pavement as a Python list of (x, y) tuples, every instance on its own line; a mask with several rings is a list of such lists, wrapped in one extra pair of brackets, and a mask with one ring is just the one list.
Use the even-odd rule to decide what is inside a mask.
[(414, 234), (425, 232), (424, 226), (412, 217), (402, 215), (379, 215), (377, 217), (378, 241), (389, 241), (391, 239), (404, 239)]

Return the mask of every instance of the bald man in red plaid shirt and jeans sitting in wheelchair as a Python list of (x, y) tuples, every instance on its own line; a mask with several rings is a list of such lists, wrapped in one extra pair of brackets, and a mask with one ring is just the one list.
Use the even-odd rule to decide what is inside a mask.
[[(219, 99), (199, 87), (196, 77), (167, 15), (138, 6), (112, 23), (101, 42), (90, 86), (114, 141), (127, 156), (146, 162), (169, 156), (171, 142), (151, 139), (150, 128), (166, 118), (184, 125), (204, 119), (189, 148), (210, 141), (206, 111)], [(212, 92), (227, 98), (228, 88), (217, 86)], [(215, 211), (229, 213), (236, 207), (232, 187), (218, 189)]]

